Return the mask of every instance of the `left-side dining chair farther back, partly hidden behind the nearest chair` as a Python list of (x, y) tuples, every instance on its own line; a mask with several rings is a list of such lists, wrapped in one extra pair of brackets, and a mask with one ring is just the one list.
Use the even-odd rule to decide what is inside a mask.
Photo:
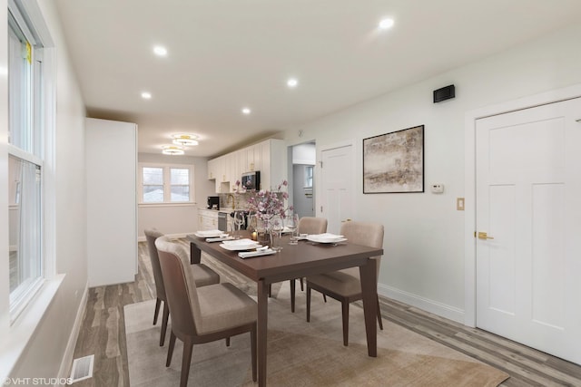
[[(152, 262), (153, 281), (155, 282), (155, 311), (153, 312), (153, 325), (157, 324), (157, 316), (160, 312), (160, 306), (163, 303), (162, 315), (162, 334), (160, 336), (160, 346), (165, 343), (165, 332), (167, 331), (167, 322), (170, 316), (170, 310), (167, 305), (167, 296), (165, 295), (165, 286), (163, 285), (162, 268), (160, 266), (160, 258), (155, 247), (155, 240), (159, 237), (166, 238), (161, 232), (156, 229), (143, 230), (145, 238), (147, 239), (147, 248), (149, 249), (149, 257)], [(214, 272), (210, 267), (203, 264), (192, 265), (191, 268), (196, 285), (212, 285), (220, 282), (220, 276)]]

